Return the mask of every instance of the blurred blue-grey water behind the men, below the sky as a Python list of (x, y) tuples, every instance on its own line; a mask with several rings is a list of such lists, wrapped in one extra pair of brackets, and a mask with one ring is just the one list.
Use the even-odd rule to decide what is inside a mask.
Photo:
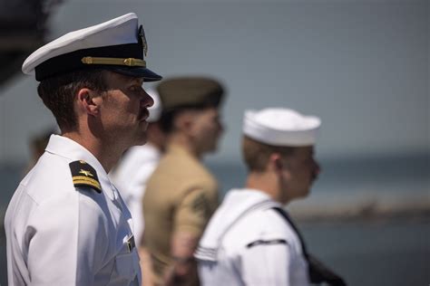
[[(430, 155), (321, 159), (320, 164), (322, 173), (308, 198), (288, 206), (310, 252), (344, 276), (348, 285), (429, 285)], [(240, 162), (208, 165), (220, 180), (221, 196), (244, 185), (246, 169)], [(22, 170), (20, 165), (0, 167), (2, 223)], [(388, 213), (405, 207), (400, 216), (348, 216), (352, 208), (366, 204), (384, 206)], [(415, 208), (424, 212), (407, 215)], [(300, 220), (309, 213), (318, 219)], [(332, 216), (325, 219), (327, 213)], [(0, 284), (6, 285), (0, 225)]]

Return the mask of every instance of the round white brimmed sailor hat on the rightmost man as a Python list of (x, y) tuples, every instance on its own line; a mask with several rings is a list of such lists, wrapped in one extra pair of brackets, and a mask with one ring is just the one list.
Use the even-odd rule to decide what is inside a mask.
[(246, 110), (243, 134), (259, 142), (275, 146), (314, 145), (321, 125), (315, 116), (304, 116), (298, 111), (283, 108)]

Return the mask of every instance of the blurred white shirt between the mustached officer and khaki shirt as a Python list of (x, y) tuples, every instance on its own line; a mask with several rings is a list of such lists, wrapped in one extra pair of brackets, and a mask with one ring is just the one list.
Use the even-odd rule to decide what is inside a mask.
[(158, 166), (160, 158), (161, 151), (151, 143), (134, 146), (125, 153), (116, 171), (109, 174), (132, 214), (136, 243), (141, 242), (144, 230), (142, 200), (146, 182)]

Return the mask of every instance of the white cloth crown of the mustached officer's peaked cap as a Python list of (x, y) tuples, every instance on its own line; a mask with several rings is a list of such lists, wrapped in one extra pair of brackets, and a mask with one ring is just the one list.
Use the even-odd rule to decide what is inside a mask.
[(124, 14), (102, 24), (66, 33), (33, 52), (23, 63), (23, 72), (33, 74), (34, 68), (58, 55), (114, 44), (137, 43), (138, 18), (134, 13)]

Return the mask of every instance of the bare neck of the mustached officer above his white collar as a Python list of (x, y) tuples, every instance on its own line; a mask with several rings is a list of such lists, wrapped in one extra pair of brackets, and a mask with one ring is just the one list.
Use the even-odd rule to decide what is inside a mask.
[(115, 166), (125, 150), (125, 148), (115, 148), (115, 144), (105, 142), (88, 132), (65, 132), (63, 136), (72, 139), (90, 151), (100, 162), (106, 173), (109, 173), (112, 167)]

